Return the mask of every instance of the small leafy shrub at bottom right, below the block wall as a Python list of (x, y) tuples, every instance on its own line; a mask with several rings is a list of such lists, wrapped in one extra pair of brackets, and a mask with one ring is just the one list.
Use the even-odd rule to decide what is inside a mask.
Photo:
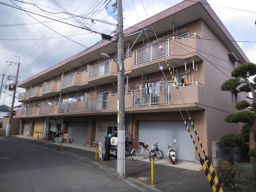
[(235, 173), (237, 168), (234, 165), (229, 164), (227, 161), (220, 161), (219, 167), (217, 167), (217, 176), (222, 188), (230, 187), (236, 188)]

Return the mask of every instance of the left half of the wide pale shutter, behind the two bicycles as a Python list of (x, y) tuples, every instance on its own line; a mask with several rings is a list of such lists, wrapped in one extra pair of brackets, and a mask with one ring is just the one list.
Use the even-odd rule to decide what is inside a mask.
[(149, 150), (151, 150), (151, 147), (158, 142), (158, 148), (164, 152), (164, 127), (165, 121), (140, 121), (139, 141), (146, 142), (149, 146)]

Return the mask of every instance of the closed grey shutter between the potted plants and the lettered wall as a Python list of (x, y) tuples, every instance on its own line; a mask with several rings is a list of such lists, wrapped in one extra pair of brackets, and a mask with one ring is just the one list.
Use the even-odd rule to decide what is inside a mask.
[(72, 142), (79, 145), (86, 145), (87, 121), (68, 122), (68, 136), (72, 137)]

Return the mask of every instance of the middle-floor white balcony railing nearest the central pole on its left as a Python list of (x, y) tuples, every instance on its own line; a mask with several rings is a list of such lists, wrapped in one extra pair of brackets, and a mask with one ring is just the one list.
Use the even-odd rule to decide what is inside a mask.
[(108, 95), (99, 95), (95, 97), (88, 97), (87, 110), (102, 110), (107, 109)]

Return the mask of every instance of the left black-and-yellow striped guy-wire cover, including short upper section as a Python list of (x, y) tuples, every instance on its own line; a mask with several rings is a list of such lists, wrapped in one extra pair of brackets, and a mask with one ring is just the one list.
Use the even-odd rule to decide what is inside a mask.
[[(174, 80), (174, 84), (175, 84), (176, 88), (178, 89), (178, 85), (177, 85), (177, 83), (176, 83), (176, 81), (175, 81), (175, 79), (174, 79), (174, 76), (173, 76), (173, 74), (172, 74), (172, 71), (171, 71), (171, 68), (170, 68), (170, 66), (169, 66), (169, 63), (167, 62), (167, 60), (165, 60), (165, 62), (166, 62), (167, 67), (168, 67), (168, 69), (169, 69), (169, 71), (170, 71), (170, 74), (172, 75), (172, 79)], [(182, 117), (183, 117), (183, 116), (182, 116)], [(184, 120), (184, 119), (183, 119), (183, 120)], [(195, 146), (195, 148), (196, 148), (197, 154), (198, 154), (198, 156), (199, 156), (199, 158), (200, 158), (200, 163), (201, 163), (201, 165), (202, 165), (202, 167), (203, 167), (203, 170), (204, 170), (204, 173), (206, 174), (206, 177), (207, 177), (207, 179), (208, 179), (208, 181), (209, 181), (209, 183), (210, 183), (210, 185), (211, 185), (212, 191), (213, 191), (213, 192), (217, 192), (217, 188), (216, 188), (216, 186), (215, 186), (215, 184), (214, 184), (214, 181), (212, 180), (211, 174), (209, 173), (209, 170), (208, 170), (206, 164), (204, 163), (204, 160), (202, 159), (202, 157), (201, 157), (201, 155), (200, 155), (200, 153), (199, 153), (199, 150), (197, 149), (195, 140), (194, 140), (194, 138), (193, 138), (193, 136), (192, 136), (192, 134), (191, 134), (191, 132), (190, 132), (190, 130), (189, 130), (189, 128), (188, 128), (188, 125), (187, 125), (187, 123), (186, 123), (185, 120), (184, 120), (184, 123), (185, 123), (185, 126), (186, 126), (186, 128), (187, 128), (187, 130), (188, 130), (188, 132), (189, 132), (189, 135), (190, 135), (191, 139), (192, 139), (192, 142), (193, 142), (193, 144), (194, 144), (194, 146)]]

